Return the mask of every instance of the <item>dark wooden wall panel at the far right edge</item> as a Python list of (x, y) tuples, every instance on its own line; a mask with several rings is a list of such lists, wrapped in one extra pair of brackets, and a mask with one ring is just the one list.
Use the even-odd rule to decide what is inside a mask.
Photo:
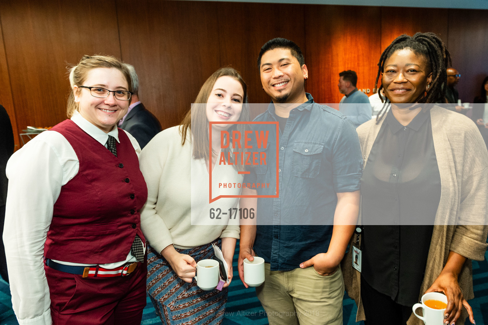
[(452, 66), (461, 74), (459, 98), (472, 102), (488, 76), (488, 10), (449, 9)]

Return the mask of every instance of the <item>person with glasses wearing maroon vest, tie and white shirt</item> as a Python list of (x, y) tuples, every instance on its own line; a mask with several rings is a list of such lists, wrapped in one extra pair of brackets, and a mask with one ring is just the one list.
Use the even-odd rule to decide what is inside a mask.
[(116, 126), (129, 106), (130, 74), (115, 57), (84, 56), (70, 82), (70, 119), (7, 165), (12, 305), (20, 324), (139, 325), (147, 187), (136, 139)]

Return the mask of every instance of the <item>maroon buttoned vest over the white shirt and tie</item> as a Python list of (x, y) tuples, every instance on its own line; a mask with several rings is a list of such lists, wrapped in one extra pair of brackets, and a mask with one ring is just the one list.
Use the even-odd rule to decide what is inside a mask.
[(72, 120), (51, 130), (68, 140), (80, 169), (61, 187), (44, 256), (86, 264), (125, 260), (136, 234), (145, 242), (139, 210), (147, 199), (139, 159), (127, 134), (119, 129), (116, 157)]

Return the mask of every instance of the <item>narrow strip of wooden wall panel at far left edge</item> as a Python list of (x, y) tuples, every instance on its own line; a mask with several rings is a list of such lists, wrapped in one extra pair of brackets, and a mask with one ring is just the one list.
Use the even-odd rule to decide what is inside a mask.
[(5, 57), (5, 45), (3, 44), (3, 33), (0, 23), (0, 105), (5, 107), (12, 123), (14, 132), (15, 150), (19, 149), (19, 133), (17, 132), (17, 119), (15, 117), (14, 99), (10, 87), (10, 76), (8, 75), (7, 58)]

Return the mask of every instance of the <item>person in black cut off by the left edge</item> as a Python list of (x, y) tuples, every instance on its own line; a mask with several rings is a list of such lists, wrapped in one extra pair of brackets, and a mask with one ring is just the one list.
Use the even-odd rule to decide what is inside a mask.
[[(10, 156), (14, 153), (14, 134), (7, 111), (0, 105), (0, 234), (3, 233), (5, 221), (5, 203), (7, 200), (8, 179), (5, 168)], [(3, 241), (0, 240), (0, 275), (8, 282), (7, 261)]]

